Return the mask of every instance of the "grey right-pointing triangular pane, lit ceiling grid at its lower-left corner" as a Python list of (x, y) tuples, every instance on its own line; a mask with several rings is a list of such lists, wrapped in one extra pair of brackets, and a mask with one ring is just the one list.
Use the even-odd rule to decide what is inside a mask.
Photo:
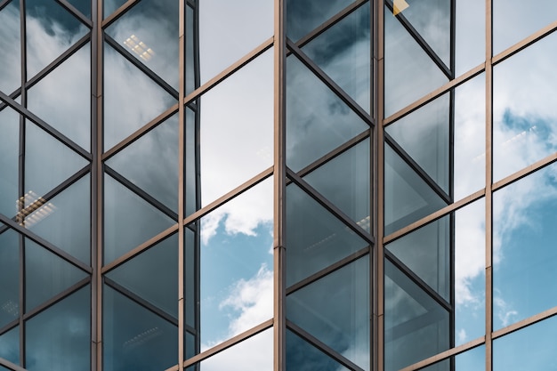
[(25, 139), (25, 207), (89, 163), (30, 121), (27, 121)]

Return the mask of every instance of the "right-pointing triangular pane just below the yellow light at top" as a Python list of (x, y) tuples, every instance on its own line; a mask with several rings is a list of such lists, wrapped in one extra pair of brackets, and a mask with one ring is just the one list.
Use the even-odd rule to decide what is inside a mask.
[(447, 83), (448, 78), (388, 8), (384, 20), (384, 116), (388, 117)]

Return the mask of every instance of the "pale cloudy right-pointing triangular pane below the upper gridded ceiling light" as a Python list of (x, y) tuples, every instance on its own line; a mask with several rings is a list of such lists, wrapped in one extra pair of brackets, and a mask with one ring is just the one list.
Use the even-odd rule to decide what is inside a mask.
[(147, 124), (176, 100), (108, 44), (104, 47), (104, 149)]

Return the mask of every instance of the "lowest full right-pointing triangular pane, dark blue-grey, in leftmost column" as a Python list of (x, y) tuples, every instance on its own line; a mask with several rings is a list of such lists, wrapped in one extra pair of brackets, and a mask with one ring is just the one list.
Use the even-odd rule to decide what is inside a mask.
[(85, 271), (30, 239), (25, 239), (26, 311), (32, 310), (55, 294), (60, 294), (85, 277)]

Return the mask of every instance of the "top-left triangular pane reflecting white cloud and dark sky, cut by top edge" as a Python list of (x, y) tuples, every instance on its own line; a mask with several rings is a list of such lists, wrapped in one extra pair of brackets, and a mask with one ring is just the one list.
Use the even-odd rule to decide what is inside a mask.
[(26, 0), (27, 74), (34, 77), (89, 32), (54, 0)]

